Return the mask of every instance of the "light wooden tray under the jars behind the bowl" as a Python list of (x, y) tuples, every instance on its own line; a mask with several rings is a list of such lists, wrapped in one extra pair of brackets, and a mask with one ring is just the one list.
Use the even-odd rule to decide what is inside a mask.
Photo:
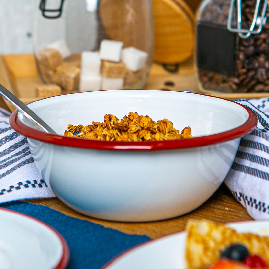
[[(24, 103), (37, 100), (35, 88), (42, 84), (38, 76), (33, 54), (1, 55), (0, 56), (0, 83), (16, 95)], [(179, 70), (171, 73), (154, 63), (150, 75), (144, 86), (150, 90), (189, 90), (199, 93), (193, 71), (193, 58), (180, 63)], [(66, 93), (63, 91), (63, 93)], [(218, 96), (230, 100), (238, 98), (269, 97), (269, 93), (217, 93), (208, 92), (208, 95)], [(0, 97), (0, 107), (14, 111), (15, 108)]]

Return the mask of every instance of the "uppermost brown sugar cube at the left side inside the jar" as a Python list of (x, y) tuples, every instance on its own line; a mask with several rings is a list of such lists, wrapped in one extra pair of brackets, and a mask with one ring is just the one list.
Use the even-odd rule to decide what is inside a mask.
[(38, 52), (37, 61), (46, 68), (55, 70), (63, 62), (63, 59), (57, 49), (45, 48)]

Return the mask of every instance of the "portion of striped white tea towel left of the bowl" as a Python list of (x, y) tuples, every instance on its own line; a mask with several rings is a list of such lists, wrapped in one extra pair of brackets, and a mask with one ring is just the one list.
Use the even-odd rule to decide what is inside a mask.
[(11, 129), (9, 116), (0, 109), (0, 203), (55, 197), (37, 171), (26, 138)]

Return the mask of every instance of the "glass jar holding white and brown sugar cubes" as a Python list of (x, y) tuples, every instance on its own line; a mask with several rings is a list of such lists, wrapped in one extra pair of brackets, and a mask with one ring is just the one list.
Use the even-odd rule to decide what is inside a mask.
[(65, 91), (141, 89), (153, 54), (150, 0), (40, 0), (34, 54)]

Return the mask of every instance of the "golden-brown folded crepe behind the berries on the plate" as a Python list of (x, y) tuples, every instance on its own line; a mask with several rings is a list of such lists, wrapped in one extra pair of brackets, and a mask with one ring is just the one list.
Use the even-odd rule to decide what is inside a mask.
[(189, 221), (186, 225), (185, 259), (188, 268), (207, 268), (218, 261), (226, 247), (244, 245), (269, 265), (269, 236), (238, 233), (232, 228), (207, 221)]

